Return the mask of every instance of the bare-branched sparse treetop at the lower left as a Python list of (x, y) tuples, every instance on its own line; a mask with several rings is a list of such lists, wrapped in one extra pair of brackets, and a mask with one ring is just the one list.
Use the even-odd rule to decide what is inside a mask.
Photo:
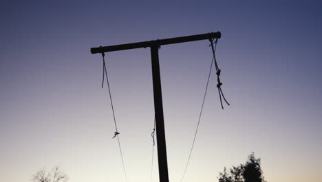
[(59, 166), (52, 169), (47, 173), (45, 170), (40, 170), (36, 174), (32, 175), (32, 181), (34, 182), (67, 182), (68, 176), (65, 172), (62, 172)]

